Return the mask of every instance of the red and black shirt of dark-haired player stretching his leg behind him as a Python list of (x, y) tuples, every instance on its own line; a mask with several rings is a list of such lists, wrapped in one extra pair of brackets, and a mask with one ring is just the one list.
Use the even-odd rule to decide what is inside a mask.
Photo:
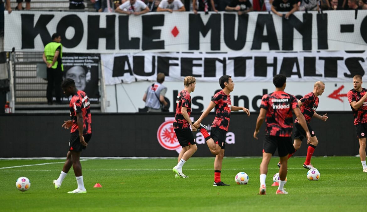
[(217, 114), (211, 127), (228, 131), (230, 110), (232, 107), (230, 95), (225, 94), (221, 90), (213, 96), (211, 101), (215, 103), (215, 113)]

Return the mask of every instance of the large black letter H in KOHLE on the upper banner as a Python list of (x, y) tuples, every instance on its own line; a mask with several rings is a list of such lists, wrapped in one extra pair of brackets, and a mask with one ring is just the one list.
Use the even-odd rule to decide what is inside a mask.
[(98, 49), (100, 38), (106, 39), (106, 49), (115, 49), (115, 18), (106, 15), (106, 28), (99, 28), (99, 15), (88, 15), (87, 49)]

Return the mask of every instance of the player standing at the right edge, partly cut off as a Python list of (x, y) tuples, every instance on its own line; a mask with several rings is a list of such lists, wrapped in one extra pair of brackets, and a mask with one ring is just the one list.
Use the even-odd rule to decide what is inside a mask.
[(362, 87), (362, 77), (353, 77), (354, 88), (348, 91), (348, 101), (353, 111), (354, 126), (359, 140), (359, 156), (363, 172), (367, 172), (366, 165), (366, 135), (367, 135), (367, 89)]

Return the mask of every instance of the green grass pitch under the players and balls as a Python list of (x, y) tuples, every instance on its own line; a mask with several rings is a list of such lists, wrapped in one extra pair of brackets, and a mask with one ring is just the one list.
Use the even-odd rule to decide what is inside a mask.
[[(183, 166), (189, 178), (175, 178), (177, 158), (86, 159), (82, 161), (87, 194), (67, 194), (77, 187), (71, 169), (60, 190), (52, 180), (61, 172), (61, 159), (0, 160), (0, 211), (364, 211), (367, 173), (359, 157), (314, 157), (319, 181), (309, 181), (305, 158), (288, 162), (287, 195), (275, 195), (273, 175), (278, 158), (270, 161), (266, 195), (258, 195), (261, 158), (224, 158), (222, 181), (231, 186), (213, 187), (214, 157), (193, 157)], [(43, 164), (43, 165), (36, 165)], [(24, 166), (32, 165), (32, 166)], [(10, 166), (22, 166), (6, 168)], [(246, 172), (247, 185), (235, 176)], [(18, 177), (31, 187), (15, 188)], [(100, 183), (102, 188), (93, 188)]]

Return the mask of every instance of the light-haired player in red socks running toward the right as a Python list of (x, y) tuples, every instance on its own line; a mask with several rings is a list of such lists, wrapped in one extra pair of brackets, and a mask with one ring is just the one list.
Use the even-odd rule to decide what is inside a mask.
[[(307, 149), (307, 156), (306, 160), (303, 164), (303, 167), (306, 169), (315, 169), (315, 167), (311, 164), (311, 157), (313, 155), (313, 152), (315, 151), (315, 148), (319, 141), (317, 140), (315, 132), (312, 130), (310, 126), (310, 119), (312, 117), (321, 119), (322, 121), (326, 121), (328, 117), (327, 114), (324, 114), (323, 116), (316, 113), (317, 106), (319, 105), (319, 97), (324, 93), (325, 90), (325, 84), (321, 81), (317, 81), (315, 85), (313, 85), (313, 91), (311, 93), (306, 94), (304, 97), (302, 97), (300, 100), (298, 100), (298, 106), (301, 109), (302, 114), (305, 116), (308, 131), (311, 134), (311, 143), (308, 146)], [(294, 143), (293, 147), (295, 151), (299, 150), (302, 144), (302, 140), (306, 137), (306, 132), (303, 130), (302, 126), (299, 124), (298, 119), (295, 119), (294, 126), (296, 128), (294, 132)], [(294, 154), (288, 155), (288, 159)], [(280, 162), (278, 163), (278, 166), (280, 168)]]

